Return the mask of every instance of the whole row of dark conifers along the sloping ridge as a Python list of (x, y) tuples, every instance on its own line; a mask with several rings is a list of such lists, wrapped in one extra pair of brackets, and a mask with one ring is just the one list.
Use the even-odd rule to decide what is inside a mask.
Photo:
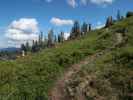
[[(133, 12), (127, 12), (126, 17), (133, 16)], [(103, 28), (108, 28), (112, 26), (115, 22), (121, 21), (124, 19), (124, 16), (121, 15), (120, 10), (117, 11), (116, 19), (113, 19), (112, 16), (107, 17), (105, 26)], [(76, 39), (82, 36), (87, 35), (92, 30), (92, 25), (84, 22), (80, 25), (79, 21), (74, 21), (74, 24), (70, 31), (70, 36), (68, 40)], [(54, 47), (57, 43), (63, 43), (65, 41), (64, 32), (55, 35), (53, 29), (48, 32), (47, 38), (43, 36), (43, 32), (40, 32), (38, 40), (33, 40), (32, 45), (29, 42), (21, 45), (21, 50), (25, 52), (38, 52), (41, 49)]]

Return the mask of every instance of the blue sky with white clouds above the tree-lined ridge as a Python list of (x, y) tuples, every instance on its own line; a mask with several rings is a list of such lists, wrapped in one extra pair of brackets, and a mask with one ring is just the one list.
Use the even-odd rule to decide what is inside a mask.
[(20, 47), (50, 29), (68, 36), (75, 20), (100, 28), (118, 10), (133, 11), (133, 0), (0, 0), (0, 48)]

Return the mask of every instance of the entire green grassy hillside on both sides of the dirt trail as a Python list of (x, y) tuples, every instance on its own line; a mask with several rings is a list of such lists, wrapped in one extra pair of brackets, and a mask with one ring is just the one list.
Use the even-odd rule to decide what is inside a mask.
[[(125, 32), (117, 35), (118, 31), (123, 31), (124, 28), (126, 28)], [(79, 77), (84, 79), (86, 75), (92, 73), (97, 83), (95, 89), (97, 92), (94, 92), (97, 96), (102, 94), (109, 98), (116, 93), (116, 97), (125, 100), (127, 94), (133, 92), (132, 33), (133, 18), (131, 17), (109, 29), (95, 30), (80, 39), (58, 44), (57, 48), (45, 49), (15, 61), (0, 62), (0, 100), (47, 100), (48, 90), (66, 68), (86, 56), (105, 49), (109, 51), (97, 59), (92, 67), (84, 66), (81, 74), (74, 79)], [(86, 73), (85, 76), (82, 72)], [(101, 87), (103, 83), (106, 84), (105, 87), (104, 85)], [(103, 92), (99, 94), (98, 91)], [(123, 94), (125, 95), (122, 96)], [(86, 97), (88, 100), (94, 99), (92, 94)], [(105, 100), (109, 99), (105, 96)]]

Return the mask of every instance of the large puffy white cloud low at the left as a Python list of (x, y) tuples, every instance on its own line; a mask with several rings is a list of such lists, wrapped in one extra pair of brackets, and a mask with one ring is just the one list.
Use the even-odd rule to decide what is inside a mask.
[(11, 22), (6, 30), (5, 36), (9, 43), (20, 45), (26, 41), (38, 39), (38, 22), (34, 18), (21, 18)]

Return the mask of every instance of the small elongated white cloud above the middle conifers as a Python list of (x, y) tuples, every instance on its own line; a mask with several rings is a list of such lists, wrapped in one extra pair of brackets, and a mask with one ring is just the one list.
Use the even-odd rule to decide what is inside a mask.
[(70, 19), (60, 19), (53, 17), (50, 22), (56, 26), (73, 25), (73, 21)]

